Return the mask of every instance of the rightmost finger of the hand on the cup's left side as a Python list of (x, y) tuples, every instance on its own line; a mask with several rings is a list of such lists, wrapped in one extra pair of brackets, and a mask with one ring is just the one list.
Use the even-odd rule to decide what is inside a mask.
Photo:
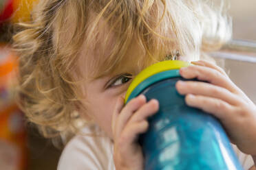
[(159, 109), (159, 104), (156, 99), (151, 99), (147, 104), (143, 105), (136, 113), (131, 117), (128, 123), (135, 123), (143, 121), (155, 114)]

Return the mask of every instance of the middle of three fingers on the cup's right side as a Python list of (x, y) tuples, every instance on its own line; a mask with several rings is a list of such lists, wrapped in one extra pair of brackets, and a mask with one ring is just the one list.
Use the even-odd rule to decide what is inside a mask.
[(203, 95), (221, 99), (234, 106), (241, 104), (240, 98), (226, 90), (226, 88), (215, 86), (206, 82), (178, 81), (175, 84), (175, 87), (180, 95)]

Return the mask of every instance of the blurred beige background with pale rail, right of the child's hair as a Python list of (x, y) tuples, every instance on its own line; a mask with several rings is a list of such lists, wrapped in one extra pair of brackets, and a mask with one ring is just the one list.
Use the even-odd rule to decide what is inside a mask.
[(224, 67), (231, 80), (256, 104), (256, 1), (230, 2), (234, 41), (223, 49), (231, 52), (223, 55)]

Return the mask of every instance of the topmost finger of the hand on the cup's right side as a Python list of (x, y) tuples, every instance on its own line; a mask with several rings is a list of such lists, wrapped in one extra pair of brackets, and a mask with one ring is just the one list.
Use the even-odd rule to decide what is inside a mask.
[(221, 86), (231, 91), (232, 93), (237, 93), (237, 87), (230, 79), (222, 75), (219, 71), (211, 69), (206, 66), (187, 66), (180, 69), (180, 75), (186, 79), (197, 78), (198, 80), (206, 81), (216, 86)]

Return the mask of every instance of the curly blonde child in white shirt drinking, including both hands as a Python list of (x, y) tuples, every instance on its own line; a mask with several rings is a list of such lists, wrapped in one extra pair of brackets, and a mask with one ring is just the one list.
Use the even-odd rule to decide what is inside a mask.
[[(39, 1), (14, 36), (19, 102), (55, 144), (74, 136), (58, 169), (143, 169), (138, 135), (159, 106), (143, 95), (124, 105), (131, 80), (161, 60), (195, 61), (219, 49), (231, 38), (222, 13), (200, 0)], [(192, 63), (180, 75), (209, 83), (179, 81), (178, 93), (220, 119), (243, 167), (255, 169), (255, 104), (219, 66)]]

